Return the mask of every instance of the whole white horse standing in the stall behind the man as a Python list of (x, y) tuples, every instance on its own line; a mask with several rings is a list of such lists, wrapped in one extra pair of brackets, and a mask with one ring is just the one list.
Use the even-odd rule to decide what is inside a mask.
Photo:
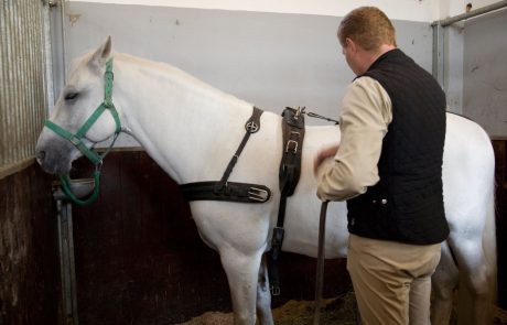
[[(71, 132), (104, 99), (106, 62), (114, 57), (112, 101), (121, 130), (133, 136), (148, 154), (179, 184), (217, 181), (245, 134), (252, 105), (226, 95), (168, 64), (112, 53), (110, 39), (74, 64), (50, 120)], [(93, 145), (111, 137), (115, 119), (107, 111), (86, 132)], [(289, 197), (283, 250), (316, 257), (319, 212), (313, 158), (337, 144), (334, 126), (308, 127), (302, 173)], [(66, 174), (80, 152), (45, 128), (36, 147), (37, 161), (54, 174)], [(263, 184), (271, 199), (263, 204), (191, 202), (203, 240), (215, 249), (227, 274), (235, 324), (273, 324), (266, 263), (276, 224), (282, 154), (281, 117), (266, 111), (260, 130), (250, 137), (229, 181)], [(442, 245), (442, 260), (433, 277), (432, 321), (447, 324), (453, 290), (470, 293), (464, 323), (486, 324), (495, 290), (494, 153), (487, 134), (476, 123), (447, 115), (443, 184), (445, 213), (451, 227)], [(330, 204), (325, 256), (347, 253), (345, 203)], [(460, 280), (460, 281), (459, 281)]]

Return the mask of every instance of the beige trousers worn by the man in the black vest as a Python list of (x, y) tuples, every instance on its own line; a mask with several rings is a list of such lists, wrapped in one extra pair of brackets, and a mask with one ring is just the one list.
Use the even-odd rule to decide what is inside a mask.
[(350, 234), (347, 270), (363, 324), (430, 324), (431, 274), (440, 243), (407, 245)]

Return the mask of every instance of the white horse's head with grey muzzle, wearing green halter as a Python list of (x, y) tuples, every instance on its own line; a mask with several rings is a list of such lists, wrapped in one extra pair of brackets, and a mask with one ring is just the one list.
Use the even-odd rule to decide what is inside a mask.
[(67, 174), (72, 162), (82, 154), (94, 161), (96, 153), (89, 148), (119, 132), (119, 119), (110, 97), (110, 59), (108, 37), (98, 50), (73, 64), (68, 82), (35, 148), (37, 162), (47, 173)]

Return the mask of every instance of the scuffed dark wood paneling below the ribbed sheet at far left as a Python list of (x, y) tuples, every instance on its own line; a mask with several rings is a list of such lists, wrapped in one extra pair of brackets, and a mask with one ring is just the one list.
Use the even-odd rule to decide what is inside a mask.
[(55, 219), (39, 166), (0, 180), (0, 324), (61, 324)]

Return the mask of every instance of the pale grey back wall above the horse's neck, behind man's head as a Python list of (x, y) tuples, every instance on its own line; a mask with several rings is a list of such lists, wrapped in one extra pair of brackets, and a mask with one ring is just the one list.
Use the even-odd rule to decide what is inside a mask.
[[(144, 1), (139, 1), (142, 4), (127, 4), (127, 1), (131, 0), (122, 0), (122, 4), (88, 0), (67, 2), (64, 52), (68, 62), (111, 35), (115, 51), (166, 62), (262, 109), (281, 112), (285, 106), (305, 106), (323, 116), (338, 116), (343, 91), (354, 78), (336, 40), (341, 18), (272, 12), (274, 9), (323, 10), (323, 4), (330, 6), (330, 1), (315, 0), (315, 4), (320, 6), (313, 7), (308, 6), (310, 1), (293, 0), (295, 4), (306, 7), (289, 7), (280, 0), (273, 1), (278, 7), (268, 8), (263, 0), (259, 0), (266, 10), (272, 9), (270, 12), (231, 10), (236, 8), (234, 6), (224, 10), (151, 7), (144, 6)], [(164, 1), (164, 4), (170, 2), (176, 4), (175, 1)], [(228, 4), (236, 2), (262, 9), (250, 1)], [(427, 1), (399, 2), (429, 9)], [(203, 4), (203, 1), (199, 3)], [(281, 3), (285, 6), (280, 7)], [(380, 1), (378, 3), (381, 4)], [(353, 8), (346, 10), (349, 9)], [(344, 7), (341, 10), (343, 14), (347, 13)], [(408, 11), (419, 10), (403, 12)], [(399, 47), (431, 71), (430, 22), (392, 20), (398, 31)], [(126, 24), (126, 21), (130, 23)], [(60, 62), (57, 59), (55, 66)], [(63, 83), (58, 80), (55, 85), (61, 89)], [(60, 94), (60, 90), (56, 93)], [(308, 119), (308, 123), (327, 122)]]

